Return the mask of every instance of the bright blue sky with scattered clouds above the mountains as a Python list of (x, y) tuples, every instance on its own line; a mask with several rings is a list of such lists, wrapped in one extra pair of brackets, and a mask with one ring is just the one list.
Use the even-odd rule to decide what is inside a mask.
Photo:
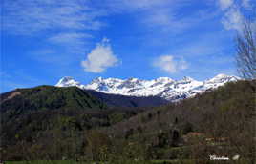
[(236, 75), (253, 0), (3, 0), (1, 91), (102, 77)]

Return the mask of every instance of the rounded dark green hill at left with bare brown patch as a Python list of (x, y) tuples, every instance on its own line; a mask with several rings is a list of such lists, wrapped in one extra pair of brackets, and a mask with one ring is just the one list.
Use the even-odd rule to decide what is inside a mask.
[(57, 88), (39, 86), (32, 89), (16, 89), (1, 94), (1, 111), (28, 113), (60, 108), (103, 109), (104, 104), (90, 93), (76, 87)]

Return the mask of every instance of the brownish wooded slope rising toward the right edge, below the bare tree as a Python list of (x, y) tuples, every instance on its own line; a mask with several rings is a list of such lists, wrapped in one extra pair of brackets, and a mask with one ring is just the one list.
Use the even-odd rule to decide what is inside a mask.
[[(144, 159), (209, 159), (209, 154), (255, 160), (255, 81), (238, 81), (117, 123), (103, 133), (125, 138)], [(114, 139), (115, 140), (115, 139)], [(123, 147), (123, 146), (122, 146)], [(125, 153), (125, 150), (123, 150)]]

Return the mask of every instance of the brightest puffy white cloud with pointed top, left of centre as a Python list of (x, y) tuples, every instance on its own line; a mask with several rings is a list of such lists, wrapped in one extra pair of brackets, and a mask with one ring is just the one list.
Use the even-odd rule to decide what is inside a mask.
[(86, 72), (104, 72), (107, 68), (117, 65), (117, 57), (114, 55), (109, 40), (104, 38), (96, 45), (88, 55), (87, 59), (81, 62)]

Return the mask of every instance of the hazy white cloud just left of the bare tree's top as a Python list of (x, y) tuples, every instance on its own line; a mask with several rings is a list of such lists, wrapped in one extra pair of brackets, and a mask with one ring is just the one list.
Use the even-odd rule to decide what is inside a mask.
[(227, 10), (224, 13), (224, 17), (222, 19), (222, 23), (224, 24), (224, 28), (226, 30), (237, 30), (242, 31), (243, 28), (244, 17), (241, 11), (237, 8), (232, 8)]

